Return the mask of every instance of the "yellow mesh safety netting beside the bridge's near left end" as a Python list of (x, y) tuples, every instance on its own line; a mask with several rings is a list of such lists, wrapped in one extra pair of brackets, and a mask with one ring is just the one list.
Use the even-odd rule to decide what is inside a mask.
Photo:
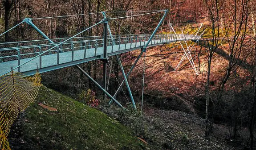
[(0, 148), (10, 150), (7, 135), (20, 111), (23, 111), (36, 98), (41, 86), (41, 75), (26, 77), (11, 72), (0, 77)]

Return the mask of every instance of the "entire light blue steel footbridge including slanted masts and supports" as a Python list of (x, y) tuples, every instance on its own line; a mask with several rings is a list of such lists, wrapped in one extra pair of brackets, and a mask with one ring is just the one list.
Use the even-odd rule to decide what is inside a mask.
[[(6, 42), (0, 43), (0, 77), (4, 77), (8, 75), (8, 73), (22, 73), (25, 76), (34, 75), (36, 73), (44, 73), (47, 71), (52, 71), (55, 69), (60, 69), (68, 66), (76, 66), (86, 77), (89, 78), (95, 85), (98, 86), (103, 91), (104, 99), (108, 96), (111, 101), (110, 104), (114, 101), (121, 108), (123, 106), (115, 99), (117, 93), (120, 91), (122, 85), (126, 83), (126, 87), (128, 89), (133, 107), (136, 109), (134, 98), (132, 96), (132, 92), (130, 90), (130, 86), (127, 78), (129, 77), (131, 71), (134, 69), (138, 60), (141, 58), (142, 54), (146, 54), (146, 49), (152, 46), (159, 46), (163, 44), (169, 44), (172, 42), (180, 43), (183, 48), (184, 55), (181, 62), (187, 57), (197, 73), (195, 69), (195, 65), (193, 59), (190, 54), (191, 48), (195, 45), (196, 42), (201, 38), (199, 36), (199, 31), (196, 34), (176, 34), (174, 28), (171, 25), (171, 28), (174, 34), (156, 34), (158, 28), (163, 23), (167, 15), (168, 10), (161, 11), (149, 11), (145, 14), (138, 14), (132, 16), (124, 16), (118, 18), (107, 18), (106, 12), (102, 12), (103, 19), (98, 23), (95, 23), (91, 27), (86, 28), (85, 30), (73, 35), (70, 38), (55, 38), (50, 39), (47, 35), (45, 35), (34, 23), (34, 19), (26, 18), (19, 24), (14, 27), (17, 27), (21, 23), (27, 23), (35, 31), (42, 35), (45, 39), (43, 40), (33, 40), (33, 41), (20, 41), (20, 42)], [(154, 29), (152, 34), (143, 34), (143, 35), (112, 35), (109, 22), (115, 19), (125, 19), (128, 17), (136, 17), (141, 15), (148, 15), (153, 13), (163, 13), (161, 20), (159, 21), (157, 27)], [(84, 14), (83, 14), (84, 15)], [(65, 16), (57, 16), (57, 17), (65, 17)], [(40, 18), (40, 19), (47, 19)], [(89, 29), (103, 25), (103, 36), (93, 36), (93, 37), (81, 37), (81, 33), (88, 31)], [(9, 29), (12, 30), (14, 27)], [(202, 25), (200, 26), (200, 28)], [(200, 30), (199, 28), (199, 30)], [(3, 34), (4, 35), (6, 32)], [(183, 32), (182, 32), (183, 33)], [(0, 36), (1, 36), (0, 35)], [(194, 45), (191, 46), (191, 43), (188, 44), (187, 41), (194, 41)], [(186, 48), (184, 48), (183, 44), (186, 43)], [(132, 50), (141, 50), (141, 53), (138, 55), (138, 58), (135, 60), (131, 69), (128, 73), (125, 73), (122, 62), (119, 58), (119, 54), (126, 53)], [(116, 55), (118, 64), (120, 65), (120, 69), (122, 71), (122, 75), (124, 80), (120, 84), (118, 90), (111, 96), (106, 91), (106, 65), (107, 59), (109, 56)], [(103, 85), (99, 85), (92, 77), (89, 76), (78, 64), (89, 62), (93, 60), (100, 59), (103, 62)], [(179, 65), (181, 64), (179, 63)], [(143, 77), (144, 83), (144, 77)], [(142, 92), (143, 92), (142, 87)], [(143, 95), (143, 94), (142, 94)], [(143, 99), (143, 98), (142, 98)]]

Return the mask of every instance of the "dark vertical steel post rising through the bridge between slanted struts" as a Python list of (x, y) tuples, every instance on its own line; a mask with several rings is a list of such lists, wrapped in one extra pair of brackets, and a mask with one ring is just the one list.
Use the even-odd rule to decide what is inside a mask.
[[(103, 88), (106, 90), (106, 81), (107, 81), (107, 40), (108, 40), (108, 21), (104, 22), (104, 40), (103, 40)], [(103, 93), (104, 101), (106, 100), (106, 94)]]

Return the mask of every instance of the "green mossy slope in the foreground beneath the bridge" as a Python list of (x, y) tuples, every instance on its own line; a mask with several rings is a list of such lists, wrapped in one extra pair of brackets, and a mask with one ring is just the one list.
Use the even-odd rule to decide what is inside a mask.
[[(57, 112), (40, 107), (39, 102)], [(36, 102), (14, 123), (8, 138), (12, 149), (146, 148), (118, 121), (46, 87), (41, 87)]]

